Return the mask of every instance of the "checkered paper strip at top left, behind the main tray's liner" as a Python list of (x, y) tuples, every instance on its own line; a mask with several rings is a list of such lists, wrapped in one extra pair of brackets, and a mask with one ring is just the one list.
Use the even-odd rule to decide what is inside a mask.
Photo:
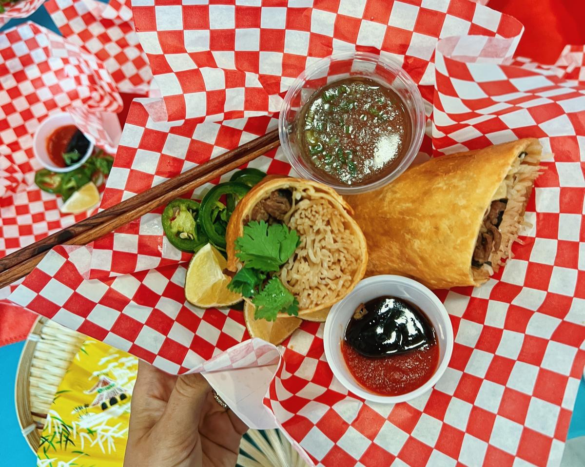
[(119, 92), (146, 94), (152, 72), (126, 2), (49, 0), (44, 6), (63, 37), (104, 63)]

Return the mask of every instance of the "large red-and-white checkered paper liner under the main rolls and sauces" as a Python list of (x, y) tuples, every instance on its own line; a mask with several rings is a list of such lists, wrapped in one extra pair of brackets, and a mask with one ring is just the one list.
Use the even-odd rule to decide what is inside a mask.
[[(322, 324), (304, 322), (280, 348), (264, 403), (318, 465), (558, 465), (585, 362), (585, 88), (577, 68), (514, 61), (521, 25), (467, 0), (154, 4), (133, 11), (163, 99), (130, 109), (102, 207), (265, 132), (273, 118), (246, 117), (277, 107), (316, 57), (356, 44), (393, 54), (421, 83), (433, 104), (436, 156), (522, 136), (555, 153), (543, 162), (527, 208), (532, 227), (514, 259), (481, 287), (436, 291), (455, 346), (431, 391), (402, 404), (364, 402), (333, 377)], [(187, 67), (190, 88), (187, 57), (199, 67)], [(163, 114), (175, 121), (157, 122)], [(227, 116), (239, 119), (220, 121)], [(291, 170), (280, 150), (251, 164)], [(11, 299), (171, 373), (276, 361), (249, 340), (238, 311), (185, 304), (188, 257), (161, 242), (159, 213), (93, 246), (57, 248)]]

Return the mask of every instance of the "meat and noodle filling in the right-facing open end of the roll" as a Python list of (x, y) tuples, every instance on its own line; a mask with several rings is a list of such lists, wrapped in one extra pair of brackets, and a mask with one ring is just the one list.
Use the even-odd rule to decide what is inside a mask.
[(477, 236), (472, 260), (473, 277), (486, 280), (512, 257), (512, 245), (518, 241), (524, 222), (526, 203), (538, 177), (541, 153), (538, 145), (531, 145), (518, 154), (510, 171), (486, 210), (484, 222)]

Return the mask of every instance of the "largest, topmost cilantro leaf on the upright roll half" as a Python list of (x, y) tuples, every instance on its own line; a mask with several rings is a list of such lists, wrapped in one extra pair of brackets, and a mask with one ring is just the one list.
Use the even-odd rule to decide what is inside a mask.
[(300, 243), (297, 232), (283, 224), (252, 221), (244, 226), (243, 233), (236, 239), (236, 256), (246, 267), (266, 272), (278, 271)]

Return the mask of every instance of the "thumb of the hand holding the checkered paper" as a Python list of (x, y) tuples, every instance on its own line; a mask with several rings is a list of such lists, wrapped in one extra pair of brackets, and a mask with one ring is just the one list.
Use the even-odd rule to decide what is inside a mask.
[(210, 390), (211, 386), (199, 373), (179, 376), (160, 418), (161, 429), (196, 439), (199, 418)]

